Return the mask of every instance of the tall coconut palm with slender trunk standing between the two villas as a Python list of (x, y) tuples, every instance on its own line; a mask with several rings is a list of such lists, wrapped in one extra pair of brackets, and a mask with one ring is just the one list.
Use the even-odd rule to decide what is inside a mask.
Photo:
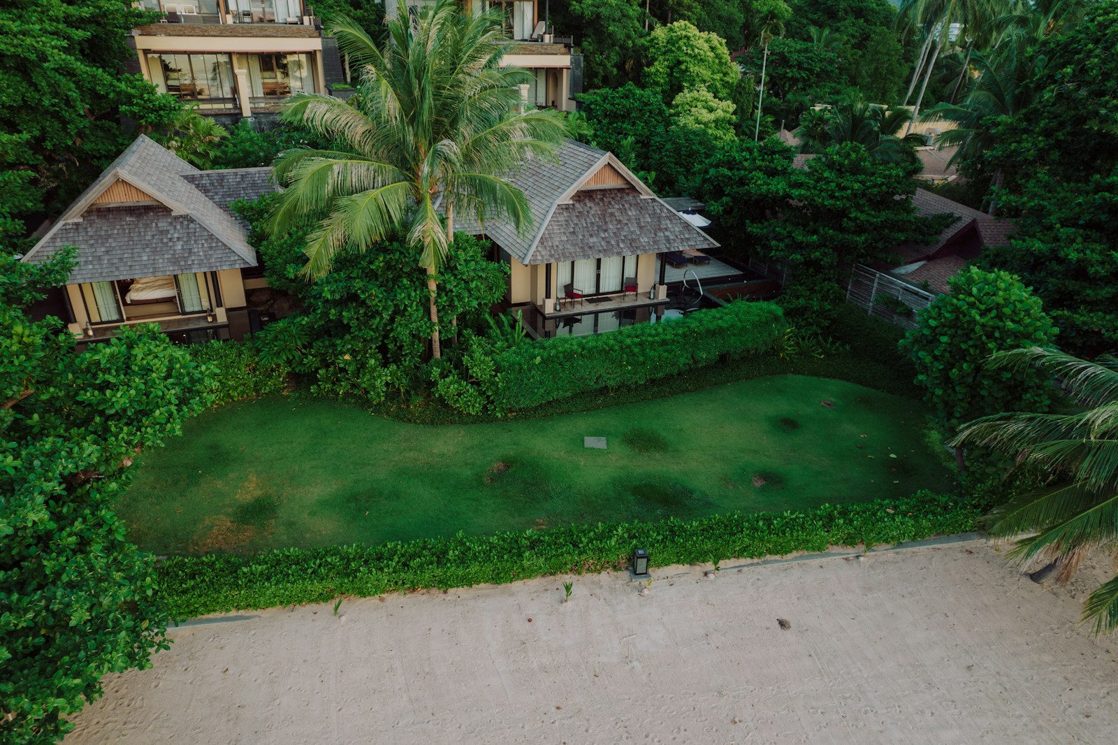
[(285, 107), (284, 121), (335, 144), (280, 157), (285, 189), (271, 227), (281, 234), (325, 215), (307, 236), (307, 279), (326, 274), (339, 253), (391, 236), (415, 246), (437, 358), (438, 270), (454, 242), (454, 215), (502, 217), (527, 232), (528, 200), (505, 177), (529, 159), (553, 158), (562, 117), (522, 105), (518, 86), (531, 75), (500, 67), (509, 41), (499, 11), (474, 16), (438, 0), (409, 17), (400, 3), (382, 49), (348, 18), (331, 32), (360, 83), (349, 102), (299, 95)]

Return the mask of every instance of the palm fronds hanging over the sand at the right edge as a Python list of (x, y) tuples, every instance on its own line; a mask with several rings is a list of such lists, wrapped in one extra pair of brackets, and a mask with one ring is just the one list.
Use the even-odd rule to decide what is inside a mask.
[[(1069, 577), (1092, 548), (1118, 549), (1118, 358), (1089, 362), (1033, 347), (995, 355), (998, 368), (1034, 365), (1059, 381), (1078, 408), (1063, 414), (997, 414), (965, 425), (950, 444), (977, 445), (1039, 466), (1053, 483), (1015, 497), (991, 515), (989, 532), (1026, 531), (1013, 556), (1060, 560)], [(1083, 620), (1096, 633), (1118, 629), (1118, 576), (1091, 593)]]

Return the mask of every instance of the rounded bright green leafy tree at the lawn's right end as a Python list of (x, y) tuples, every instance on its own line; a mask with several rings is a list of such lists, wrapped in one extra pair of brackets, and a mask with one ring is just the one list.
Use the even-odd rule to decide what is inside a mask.
[(917, 385), (942, 430), (1004, 411), (1046, 411), (1049, 394), (1032, 368), (992, 368), (994, 352), (1043, 347), (1057, 334), (1041, 301), (1007, 272), (967, 267), (920, 311), (901, 349), (916, 365)]

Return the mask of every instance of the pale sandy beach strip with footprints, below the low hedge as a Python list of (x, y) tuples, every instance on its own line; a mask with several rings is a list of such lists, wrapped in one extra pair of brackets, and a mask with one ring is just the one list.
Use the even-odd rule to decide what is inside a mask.
[(673, 567), (644, 597), (609, 574), (566, 605), (552, 578), (246, 614), (172, 631), (66, 743), (1118, 742), (1118, 640), (1078, 621), (1095, 577), (1042, 587), (1003, 556), (973, 541), (713, 581)]

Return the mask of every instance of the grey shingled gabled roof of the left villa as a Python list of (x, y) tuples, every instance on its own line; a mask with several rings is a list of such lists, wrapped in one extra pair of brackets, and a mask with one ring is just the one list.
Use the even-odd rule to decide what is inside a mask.
[[(258, 170), (258, 169), (250, 169)], [(210, 272), (256, 265), (245, 228), (191, 182), (199, 171), (145, 135), (117, 157), (23, 257), (41, 263), (78, 247), (69, 282)], [(217, 180), (227, 182), (227, 178)], [(154, 204), (95, 207), (124, 181)]]

